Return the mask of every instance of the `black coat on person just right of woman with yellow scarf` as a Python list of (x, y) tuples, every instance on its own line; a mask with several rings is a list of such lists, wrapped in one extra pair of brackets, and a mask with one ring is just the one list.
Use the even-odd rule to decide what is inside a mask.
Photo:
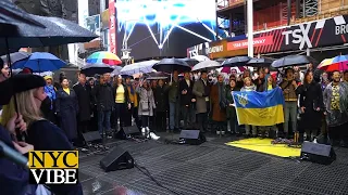
[(91, 115), (91, 88), (90, 86), (83, 86), (80, 83), (76, 83), (73, 87), (77, 101), (78, 101), (78, 114), (77, 118), (79, 121), (88, 121), (90, 120)]

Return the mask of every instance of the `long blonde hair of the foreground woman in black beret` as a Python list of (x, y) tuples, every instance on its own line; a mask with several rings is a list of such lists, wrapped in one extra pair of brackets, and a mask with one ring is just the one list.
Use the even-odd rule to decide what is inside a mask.
[[(18, 108), (17, 112), (23, 116), (23, 120), (27, 123), (28, 127), (33, 122), (41, 120), (44, 118), (40, 107), (36, 104), (34, 99), (34, 93), (36, 91), (37, 89), (33, 89), (17, 93), (15, 95)], [(9, 122), (9, 120), (14, 116), (16, 112), (14, 105), (14, 96), (12, 96), (10, 103), (2, 107), (2, 115), (0, 121), (2, 126), (5, 126)]]

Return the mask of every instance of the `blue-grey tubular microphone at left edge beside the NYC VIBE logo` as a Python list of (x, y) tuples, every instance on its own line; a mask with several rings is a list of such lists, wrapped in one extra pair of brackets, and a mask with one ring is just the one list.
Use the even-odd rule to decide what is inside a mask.
[(8, 146), (1, 140), (0, 140), (0, 156), (4, 156), (10, 160), (14, 161), (15, 164), (24, 168), (28, 168), (27, 167), (28, 159), (25, 156), (23, 156), (21, 153)]

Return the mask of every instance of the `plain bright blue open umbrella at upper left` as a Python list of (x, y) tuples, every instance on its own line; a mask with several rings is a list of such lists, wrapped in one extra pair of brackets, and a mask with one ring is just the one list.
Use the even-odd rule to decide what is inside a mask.
[(30, 68), (34, 73), (53, 72), (65, 66), (66, 63), (51, 53), (35, 52), (28, 60), (18, 61), (12, 65), (15, 68)]

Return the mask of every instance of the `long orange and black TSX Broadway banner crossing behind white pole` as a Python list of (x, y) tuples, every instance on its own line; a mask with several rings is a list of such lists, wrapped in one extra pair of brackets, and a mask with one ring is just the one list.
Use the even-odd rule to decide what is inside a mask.
[[(341, 46), (348, 41), (348, 15), (339, 15), (315, 22), (284, 26), (253, 35), (254, 54), (300, 51), (306, 49)], [(240, 39), (239, 39), (240, 38)], [(238, 40), (233, 40), (238, 39)], [(245, 36), (189, 47), (187, 56), (198, 54), (211, 58), (247, 55), (248, 39)], [(209, 49), (207, 49), (209, 48)]]

